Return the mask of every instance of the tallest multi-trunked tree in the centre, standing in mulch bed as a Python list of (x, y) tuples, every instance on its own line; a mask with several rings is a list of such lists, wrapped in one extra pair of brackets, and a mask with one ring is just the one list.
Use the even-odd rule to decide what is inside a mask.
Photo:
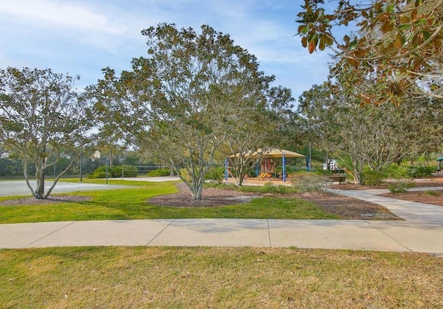
[[(264, 75), (253, 55), (210, 26), (197, 33), (159, 24), (142, 33), (147, 56), (133, 59), (132, 71), (120, 77), (105, 70), (94, 91), (96, 106), (112, 102), (125, 140), (175, 169), (199, 200), (217, 151), (249, 150), (270, 140), (266, 134), (274, 122), (266, 124), (270, 114), (265, 111), (270, 111), (274, 77)], [(273, 91), (275, 109), (291, 98), (287, 91)]]

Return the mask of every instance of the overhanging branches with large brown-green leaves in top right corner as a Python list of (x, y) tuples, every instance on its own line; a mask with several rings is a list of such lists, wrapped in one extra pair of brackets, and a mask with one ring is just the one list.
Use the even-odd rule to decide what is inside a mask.
[[(368, 100), (397, 100), (407, 93), (443, 98), (443, 0), (305, 0), (298, 14), (298, 35), (309, 53), (334, 50), (343, 66), (361, 68), (361, 82), (386, 84)], [(355, 35), (336, 28), (356, 25)], [(375, 100), (374, 100), (375, 99)]]

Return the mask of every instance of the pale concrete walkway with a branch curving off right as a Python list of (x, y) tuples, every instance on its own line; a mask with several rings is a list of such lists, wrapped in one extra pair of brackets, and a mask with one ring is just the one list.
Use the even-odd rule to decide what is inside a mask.
[(404, 221), (169, 219), (17, 223), (0, 225), (0, 248), (293, 246), (443, 254), (443, 207), (384, 198), (377, 195), (384, 192), (380, 190), (328, 190), (383, 205)]

